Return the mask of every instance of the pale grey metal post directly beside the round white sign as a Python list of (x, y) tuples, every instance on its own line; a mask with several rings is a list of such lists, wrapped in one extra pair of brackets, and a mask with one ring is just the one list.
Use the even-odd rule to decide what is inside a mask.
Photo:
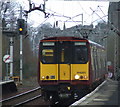
[(10, 37), (10, 77), (13, 76), (13, 37)]

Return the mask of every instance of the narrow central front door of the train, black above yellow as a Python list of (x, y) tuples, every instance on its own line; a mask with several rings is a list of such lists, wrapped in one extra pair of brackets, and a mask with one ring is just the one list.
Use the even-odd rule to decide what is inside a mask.
[(71, 77), (71, 42), (62, 41), (59, 43), (59, 80), (70, 80)]

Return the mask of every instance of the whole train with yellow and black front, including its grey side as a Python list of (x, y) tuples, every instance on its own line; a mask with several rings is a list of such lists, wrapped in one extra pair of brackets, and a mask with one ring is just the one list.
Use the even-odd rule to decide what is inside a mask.
[(38, 65), (45, 99), (75, 98), (104, 80), (105, 50), (78, 37), (50, 37), (40, 41)]

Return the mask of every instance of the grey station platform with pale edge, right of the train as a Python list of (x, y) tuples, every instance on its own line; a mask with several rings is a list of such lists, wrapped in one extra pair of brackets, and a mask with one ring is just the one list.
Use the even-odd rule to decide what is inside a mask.
[(93, 92), (70, 105), (74, 106), (120, 107), (120, 81), (106, 79)]

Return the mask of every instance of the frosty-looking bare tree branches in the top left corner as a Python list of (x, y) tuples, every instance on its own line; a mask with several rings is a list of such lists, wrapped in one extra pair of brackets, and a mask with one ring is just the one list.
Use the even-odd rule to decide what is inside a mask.
[(3, 28), (5, 30), (15, 30), (17, 18), (19, 17), (19, 4), (15, 1), (8, 2), (7, 0), (2, 1), (1, 4)]

